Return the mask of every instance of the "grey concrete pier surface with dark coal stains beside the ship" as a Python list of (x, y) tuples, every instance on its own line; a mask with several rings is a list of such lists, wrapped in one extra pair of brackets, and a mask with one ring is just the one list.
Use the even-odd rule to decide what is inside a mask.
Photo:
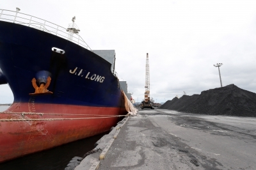
[(145, 109), (126, 121), (99, 141), (104, 157), (88, 155), (76, 170), (256, 169), (256, 118)]

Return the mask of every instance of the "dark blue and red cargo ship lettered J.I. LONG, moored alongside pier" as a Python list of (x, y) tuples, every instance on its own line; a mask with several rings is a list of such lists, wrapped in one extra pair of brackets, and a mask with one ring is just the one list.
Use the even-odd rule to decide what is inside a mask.
[(75, 20), (0, 10), (0, 84), (14, 97), (0, 113), (0, 162), (106, 132), (127, 114), (115, 56), (111, 65), (93, 52)]

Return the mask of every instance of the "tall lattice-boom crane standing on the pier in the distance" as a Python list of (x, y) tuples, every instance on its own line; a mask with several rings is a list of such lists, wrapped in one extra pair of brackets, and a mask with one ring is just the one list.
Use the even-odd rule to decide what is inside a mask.
[(148, 53), (147, 53), (147, 59), (146, 59), (145, 93), (144, 93), (144, 99), (141, 102), (141, 109), (144, 109), (144, 108), (154, 109), (154, 101), (150, 100), (150, 79), (149, 79)]

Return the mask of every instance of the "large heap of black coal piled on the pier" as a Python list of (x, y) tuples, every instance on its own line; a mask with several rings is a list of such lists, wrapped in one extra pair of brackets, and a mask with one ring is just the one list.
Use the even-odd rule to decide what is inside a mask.
[(200, 95), (175, 97), (159, 108), (196, 114), (256, 117), (256, 93), (230, 84), (202, 91)]

